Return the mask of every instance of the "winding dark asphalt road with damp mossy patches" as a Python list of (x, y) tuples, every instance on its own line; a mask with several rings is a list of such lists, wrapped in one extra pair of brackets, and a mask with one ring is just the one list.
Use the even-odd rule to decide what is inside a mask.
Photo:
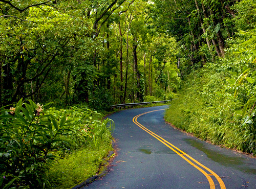
[(111, 171), (83, 188), (256, 188), (256, 159), (166, 124), (167, 106), (111, 116), (117, 156)]

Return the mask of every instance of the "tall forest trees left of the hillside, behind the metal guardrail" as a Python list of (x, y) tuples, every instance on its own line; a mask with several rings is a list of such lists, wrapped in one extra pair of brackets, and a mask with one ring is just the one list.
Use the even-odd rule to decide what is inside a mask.
[(1, 105), (105, 107), (179, 87), (177, 43), (151, 1), (0, 2)]

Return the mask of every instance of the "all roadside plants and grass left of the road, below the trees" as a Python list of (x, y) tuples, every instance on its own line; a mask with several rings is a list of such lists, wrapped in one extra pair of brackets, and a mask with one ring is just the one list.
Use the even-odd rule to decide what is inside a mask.
[(2, 108), (1, 188), (70, 188), (96, 175), (114, 128), (101, 118), (86, 107), (46, 109), (31, 100)]

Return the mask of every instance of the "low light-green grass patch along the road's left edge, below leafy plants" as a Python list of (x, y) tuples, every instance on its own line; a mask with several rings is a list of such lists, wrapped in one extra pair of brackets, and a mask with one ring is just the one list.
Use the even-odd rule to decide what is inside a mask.
[(104, 158), (113, 150), (109, 141), (102, 142), (99, 148), (87, 147), (57, 159), (49, 170), (51, 185), (56, 189), (71, 188), (95, 176)]

